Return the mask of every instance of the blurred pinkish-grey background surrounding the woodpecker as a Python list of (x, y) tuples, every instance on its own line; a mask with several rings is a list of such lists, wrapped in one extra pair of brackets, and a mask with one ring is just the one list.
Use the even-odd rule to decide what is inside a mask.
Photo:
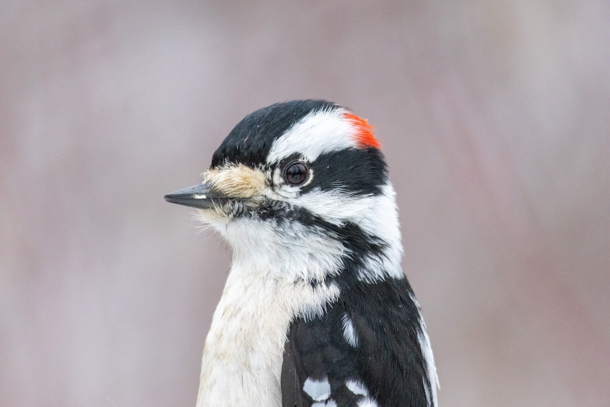
[(0, 405), (194, 406), (259, 107), (376, 126), (440, 406), (610, 405), (610, 3), (3, 1)]

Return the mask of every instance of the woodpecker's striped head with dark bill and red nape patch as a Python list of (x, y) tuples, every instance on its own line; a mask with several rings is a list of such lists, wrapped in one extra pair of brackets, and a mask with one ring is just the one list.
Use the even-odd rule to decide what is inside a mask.
[(400, 272), (395, 193), (373, 128), (334, 103), (290, 101), (243, 118), (203, 182), (165, 196), (196, 208), (235, 263), (307, 281)]

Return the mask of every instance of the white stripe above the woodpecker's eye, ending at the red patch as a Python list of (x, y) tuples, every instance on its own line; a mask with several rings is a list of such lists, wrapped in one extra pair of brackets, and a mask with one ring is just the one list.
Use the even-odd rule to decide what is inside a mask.
[(267, 163), (295, 153), (312, 162), (322, 153), (356, 148), (353, 124), (343, 118), (343, 113), (346, 110), (340, 108), (309, 113), (273, 142)]

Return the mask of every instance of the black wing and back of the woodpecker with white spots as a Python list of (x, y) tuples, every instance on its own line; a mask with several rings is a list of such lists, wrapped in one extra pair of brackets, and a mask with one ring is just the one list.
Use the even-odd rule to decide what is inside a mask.
[(322, 317), (294, 320), (284, 348), (282, 405), (434, 405), (412, 298), (406, 278), (358, 283)]

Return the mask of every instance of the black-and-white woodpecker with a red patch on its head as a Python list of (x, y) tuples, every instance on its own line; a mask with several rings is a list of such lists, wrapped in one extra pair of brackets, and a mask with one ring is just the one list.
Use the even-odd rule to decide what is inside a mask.
[(395, 192), (366, 120), (323, 100), (264, 107), (202, 179), (165, 196), (232, 247), (198, 407), (437, 405)]

